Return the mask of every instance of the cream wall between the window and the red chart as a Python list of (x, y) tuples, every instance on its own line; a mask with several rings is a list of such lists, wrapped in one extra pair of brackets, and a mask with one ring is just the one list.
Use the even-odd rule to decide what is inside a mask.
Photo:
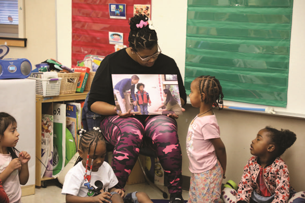
[(55, 0), (25, 1), (24, 8), (26, 47), (10, 47), (5, 58), (27, 58), (35, 69), (37, 63), (56, 59)]

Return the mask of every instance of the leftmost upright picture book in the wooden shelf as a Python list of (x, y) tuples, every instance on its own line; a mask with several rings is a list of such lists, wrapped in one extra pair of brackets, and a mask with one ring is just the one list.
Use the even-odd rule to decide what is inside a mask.
[(53, 170), (53, 116), (42, 114), (41, 137), (48, 140), (47, 165), (44, 173), (45, 177), (52, 178)]

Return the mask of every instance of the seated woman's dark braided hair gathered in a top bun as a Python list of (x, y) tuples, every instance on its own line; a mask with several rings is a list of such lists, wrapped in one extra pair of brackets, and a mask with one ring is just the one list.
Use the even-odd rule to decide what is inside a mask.
[(148, 17), (145, 15), (136, 15), (129, 20), (130, 32), (128, 37), (129, 47), (134, 51), (143, 49), (153, 49), (158, 44), (157, 32), (154, 29), (149, 29), (149, 26), (143, 26), (138, 28), (139, 24), (143, 20), (148, 21)]

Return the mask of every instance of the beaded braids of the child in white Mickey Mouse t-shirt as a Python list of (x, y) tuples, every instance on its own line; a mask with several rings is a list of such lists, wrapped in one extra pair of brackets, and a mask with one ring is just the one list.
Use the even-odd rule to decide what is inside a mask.
[(91, 173), (92, 173), (92, 166), (94, 159), (91, 159), (90, 164), (90, 173), (87, 175), (88, 171), (88, 161), (89, 161), (89, 155), (90, 155), (90, 147), (95, 143), (94, 153), (96, 152), (96, 148), (98, 145), (98, 141), (102, 141), (105, 143), (105, 139), (103, 134), (101, 133), (101, 130), (99, 127), (94, 127), (94, 130), (86, 131), (84, 129), (77, 130), (77, 133), (79, 134), (79, 149), (81, 150), (88, 150), (87, 155), (87, 161), (86, 161), (86, 167), (85, 167), (85, 175), (84, 180), (87, 180), (89, 183), (91, 181)]

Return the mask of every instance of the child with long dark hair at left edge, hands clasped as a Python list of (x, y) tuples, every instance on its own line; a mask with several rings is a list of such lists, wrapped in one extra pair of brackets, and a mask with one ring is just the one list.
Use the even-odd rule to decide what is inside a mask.
[(0, 112), (0, 180), (10, 202), (21, 202), (21, 185), (28, 181), (31, 156), (15, 149), (19, 140), (16, 119)]

